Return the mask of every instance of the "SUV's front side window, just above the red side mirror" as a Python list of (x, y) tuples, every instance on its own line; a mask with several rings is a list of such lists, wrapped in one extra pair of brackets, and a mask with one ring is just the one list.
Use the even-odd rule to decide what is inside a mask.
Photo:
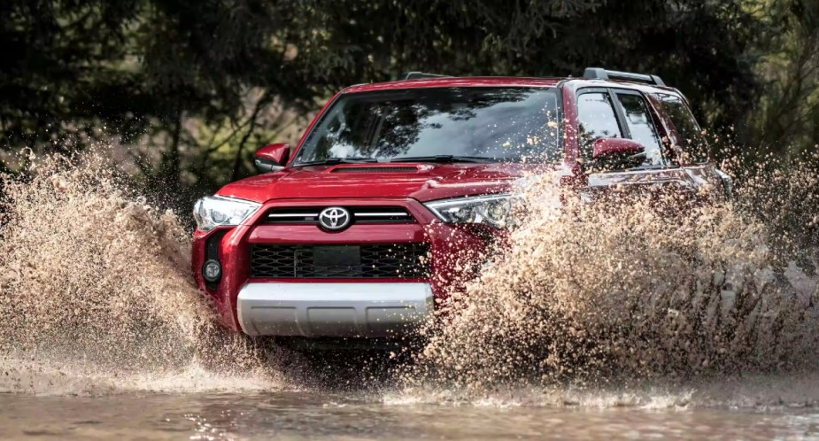
[(577, 97), (577, 143), (583, 159), (591, 159), (599, 138), (622, 137), (611, 98), (606, 92), (588, 92)]

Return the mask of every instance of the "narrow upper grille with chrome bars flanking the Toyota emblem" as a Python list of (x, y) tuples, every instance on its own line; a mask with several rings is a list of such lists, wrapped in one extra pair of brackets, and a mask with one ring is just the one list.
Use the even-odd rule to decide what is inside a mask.
[[(325, 206), (278, 207), (267, 212), (265, 223), (318, 224), (319, 213)], [(398, 205), (345, 206), (352, 214), (352, 223), (413, 223), (415, 218)]]

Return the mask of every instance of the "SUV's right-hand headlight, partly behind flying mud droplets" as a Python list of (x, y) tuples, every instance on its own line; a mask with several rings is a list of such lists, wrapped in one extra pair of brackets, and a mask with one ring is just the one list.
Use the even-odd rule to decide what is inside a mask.
[(473, 223), (492, 228), (508, 228), (515, 223), (513, 201), (516, 199), (517, 197), (511, 195), (455, 197), (424, 205), (446, 223)]

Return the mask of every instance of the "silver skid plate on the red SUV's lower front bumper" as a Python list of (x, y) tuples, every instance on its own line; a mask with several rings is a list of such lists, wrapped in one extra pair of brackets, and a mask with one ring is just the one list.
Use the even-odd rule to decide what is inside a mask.
[(406, 335), (433, 311), (425, 282), (249, 282), (236, 302), (251, 336)]

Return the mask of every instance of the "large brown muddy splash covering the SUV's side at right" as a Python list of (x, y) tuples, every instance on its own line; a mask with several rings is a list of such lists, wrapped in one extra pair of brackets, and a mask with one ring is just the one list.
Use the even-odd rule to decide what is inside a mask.
[[(808, 193), (816, 187), (802, 184), (815, 181), (788, 179)], [(529, 188), (530, 215), (502, 259), (425, 330), (429, 344), (401, 374), (408, 396), (475, 402), (532, 387), (816, 370), (815, 257), (788, 260), (771, 246), (788, 236), (783, 224), (742, 199), (753, 194), (758, 213), (774, 182), (738, 201), (642, 190), (594, 204), (562, 195), (562, 206), (544, 203), (560, 197), (552, 182)], [(796, 244), (787, 249), (817, 255), (819, 244)]]

